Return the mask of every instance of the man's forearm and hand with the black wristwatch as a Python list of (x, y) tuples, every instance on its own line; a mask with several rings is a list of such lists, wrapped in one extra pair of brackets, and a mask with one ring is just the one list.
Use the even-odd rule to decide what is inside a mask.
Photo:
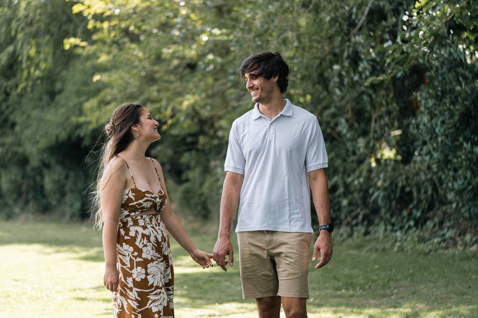
[[(312, 191), (312, 199), (314, 201), (319, 224), (329, 224), (330, 218), (330, 202), (329, 202), (329, 186), (327, 184), (327, 175), (325, 169), (317, 169), (309, 172), (310, 189)], [(317, 259), (320, 251), (320, 262), (315, 265), (315, 268), (325, 266), (332, 258), (332, 234), (327, 230), (322, 230), (319, 233), (314, 244), (314, 254), (312, 261)]]

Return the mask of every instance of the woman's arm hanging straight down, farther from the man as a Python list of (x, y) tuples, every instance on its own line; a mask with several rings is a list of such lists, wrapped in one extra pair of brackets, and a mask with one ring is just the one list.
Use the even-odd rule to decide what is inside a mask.
[(119, 274), (116, 268), (116, 241), (118, 220), (126, 175), (124, 163), (114, 158), (105, 167), (100, 183), (100, 204), (103, 211), (103, 252), (105, 254), (105, 276), (103, 282), (110, 291), (116, 291)]

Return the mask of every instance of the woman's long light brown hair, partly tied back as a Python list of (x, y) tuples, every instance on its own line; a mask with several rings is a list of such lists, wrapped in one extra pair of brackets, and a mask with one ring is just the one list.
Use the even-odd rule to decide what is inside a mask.
[[(139, 117), (141, 116), (141, 110), (143, 105), (136, 103), (125, 103), (120, 105), (113, 115), (111, 120), (105, 125), (105, 133), (107, 141), (103, 144), (100, 152), (100, 159), (98, 164), (98, 174), (96, 181), (92, 184), (92, 188), (95, 189), (91, 192), (93, 201), (92, 219), (94, 219), (95, 226), (101, 229), (103, 225), (103, 210), (100, 201), (100, 190), (102, 184), (106, 184), (106, 181), (110, 176), (106, 177), (106, 180), (101, 182), (103, 173), (106, 166), (116, 155), (126, 149), (126, 147), (134, 139), (131, 132), (131, 126), (139, 123)], [(110, 175), (113, 171), (110, 171)]]

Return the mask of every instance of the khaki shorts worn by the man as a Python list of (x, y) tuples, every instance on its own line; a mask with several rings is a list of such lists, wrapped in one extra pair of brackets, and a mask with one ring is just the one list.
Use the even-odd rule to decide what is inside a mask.
[(238, 232), (242, 297), (309, 298), (311, 233)]

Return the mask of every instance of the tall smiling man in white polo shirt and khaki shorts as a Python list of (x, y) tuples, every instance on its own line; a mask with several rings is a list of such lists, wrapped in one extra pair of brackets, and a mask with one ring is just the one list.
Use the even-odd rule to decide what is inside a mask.
[(281, 304), (288, 318), (307, 317), (310, 190), (321, 225), (315, 268), (332, 257), (322, 132), (315, 115), (283, 99), (289, 68), (279, 53), (249, 56), (239, 72), (255, 106), (234, 121), (229, 135), (214, 260), (224, 270), (234, 264), (230, 229), (240, 195), (242, 297), (255, 298), (260, 318), (278, 318)]

